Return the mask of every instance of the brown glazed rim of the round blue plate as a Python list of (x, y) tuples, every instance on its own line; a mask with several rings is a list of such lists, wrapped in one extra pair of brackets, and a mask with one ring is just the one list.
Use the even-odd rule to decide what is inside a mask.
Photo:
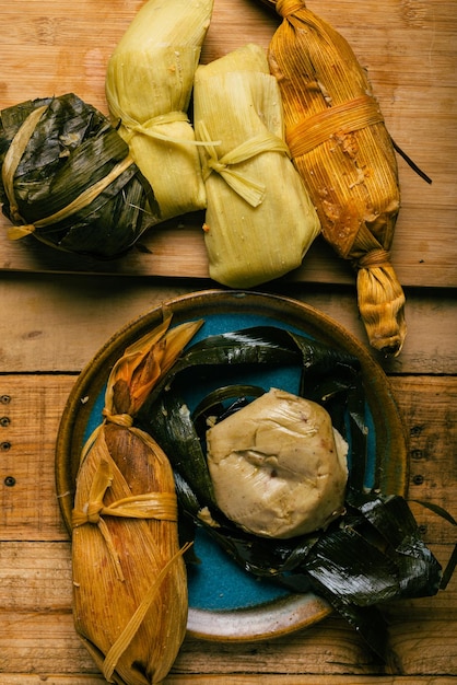
[[(221, 310), (221, 306), (225, 306), (225, 310)], [(230, 312), (226, 311), (227, 307)], [(342, 346), (347, 351), (355, 355), (361, 361), (364, 380), (366, 376), (370, 379), (370, 396), (379, 399), (376, 396), (376, 391), (379, 391), (389, 406), (389, 427), (387, 428), (384, 426), (384, 421), (379, 422), (383, 414), (382, 407), (378, 406), (379, 403), (375, 402), (375, 406), (368, 403), (376, 426), (376, 451), (383, 450), (387, 453), (391, 451), (394, 445), (397, 448), (395, 467), (390, 464), (389, 468), (380, 473), (382, 484), (389, 484), (388, 494), (406, 495), (409, 476), (407, 433), (391, 392), (390, 382), (380, 364), (362, 342), (327, 314), (293, 298), (260, 291), (210, 289), (163, 301), (160, 305), (126, 323), (108, 338), (79, 374), (61, 414), (55, 452), (57, 498), (70, 538), (70, 516), (74, 489), (74, 471), (71, 469), (75, 453), (75, 448), (72, 444), (74, 443), (74, 419), (77, 416), (83, 416), (85, 410), (87, 415), (90, 413), (91, 404), (86, 402), (89, 398), (87, 391), (89, 387), (94, 386), (97, 372), (99, 373), (102, 369), (105, 370), (106, 382), (108, 374), (106, 365), (114, 362), (119, 357), (119, 352), (121, 353), (127, 345), (132, 342), (133, 338), (141, 337), (152, 326), (157, 325), (165, 311), (173, 313), (173, 323), (178, 324), (190, 318), (204, 318), (203, 309), (207, 314), (232, 313), (233, 310), (237, 310), (237, 314), (250, 313), (261, 316), (265, 313), (282, 324), (294, 325), (298, 329), (308, 332), (309, 327), (314, 328), (318, 338), (331, 340), (333, 345)], [(190, 312), (192, 313), (190, 314)], [(306, 325), (308, 328), (305, 328)], [(102, 386), (103, 384), (99, 384), (99, 391), (102, 391)], [(80, 422), (84, 423), (84, 420), (80, 419)], [(384, 433), (378, 434), (378, 428), (383, 428)], [(79, 454), (80, 448), (77, 452), (78, 456)], [(314, 613), (309, 613), (309, 604), (314, 607)], [(265, 606), (258, 604), (255, 607), (241, 609), (204, 611), (189, 607), (187, 631), (191, 637), (212, 641), (256, 641), (282, 636), (313, 625), (325, 618), (331, 611), (324, 599), (312, 592), (303, 595), (292, 593), (285, 599), (279, 597)], [(258, 620), (259, 614), (263, 616), (263, 622)], [(234, 619), (232, 628), (230, 618)], [(208, 624), (210, 625), (208, 626)], [(257, 628), (253, 628), (253, 624)]]

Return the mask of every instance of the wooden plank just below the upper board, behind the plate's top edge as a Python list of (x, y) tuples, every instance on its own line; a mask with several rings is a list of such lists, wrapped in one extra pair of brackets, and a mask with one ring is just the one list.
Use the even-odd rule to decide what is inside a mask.
[[(196, 290), (195, 281), (60, 275), (1, 275), (0, 372), (74, 372), (121, 327), (164, 301)], [(263, 289), (271, 292), (272, 290)], [(277, 288), (347, 328), (367, 349), (352, 287), (296, 285)], [(17, 316), (21, 312), (21, 316)], [(370, 352), (389, 373), (457, 373), (457, 298), (407, 291), (408, 335), (399, 357)]]

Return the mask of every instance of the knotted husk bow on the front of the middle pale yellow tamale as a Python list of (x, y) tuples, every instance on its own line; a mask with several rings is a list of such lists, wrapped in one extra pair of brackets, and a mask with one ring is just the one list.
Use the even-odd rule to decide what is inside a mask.
[(242, 142), (230, 152), (218, 158), (214, 143), (210, 141), (210, 136), (203, 121), (198, 124), (197, 131), (208, 154), (208, 159), (203, 164), (203, 181), (207, 181), (211, 173), (215, 172), (251, 207), (260, 205), (265, 197), (265, 184), (235, 171), (232, 169), (232, 165), (246, 162), (263, 152), (285, 152), (290, 156), (286, 143), (281, 138), (266, 131), (249, 138), (249, 140)]

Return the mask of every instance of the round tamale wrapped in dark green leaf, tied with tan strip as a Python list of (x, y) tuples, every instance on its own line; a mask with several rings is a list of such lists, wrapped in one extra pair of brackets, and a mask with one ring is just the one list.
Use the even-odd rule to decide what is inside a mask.
[(0, 200), (14, 224), (60, 249), (99, 258), (126, 252), (157, 206), (109, 120), (73, 93), (0, 113)]

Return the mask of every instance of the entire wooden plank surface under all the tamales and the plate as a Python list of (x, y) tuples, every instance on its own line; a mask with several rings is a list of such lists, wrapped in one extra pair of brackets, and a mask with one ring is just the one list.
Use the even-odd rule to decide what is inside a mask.
[[(74, 91), (106, 111), (106, 60), (140, 1), (0, 2), (1, 107)], [(407, 294), (401, 355), (378, 359), (409, 433), (409, 498), (457, 516), (456, 36), (453, 0), (309, 0), (350, 39), (392, 137), (432, 176), (400, 160), (403, 205), (394, 264)], [(202, 59), (255, 40), (277, 20), (248, 0), (215, 0)], [(101, 685), (71, 616), (70, 543), (54, 485), (59, 419), (79, 372), (120, 326), (181, 293), (213, 287), (199, 230), (186, 220), (98, 265), (10, 243), (0, 221), (0, 685)], [(294, 275), (269, 283), (332, 316), (363, 345), (353, 275), (316, 241)], [(456, 527), (411, 503), (445, 564)], [(167, 685), (417, 685), (457, 682), (457, 579), (435, 597), (385, 607), (401, 672), (375, 664), (339, 617), (263, 642), (187, 638)]]

